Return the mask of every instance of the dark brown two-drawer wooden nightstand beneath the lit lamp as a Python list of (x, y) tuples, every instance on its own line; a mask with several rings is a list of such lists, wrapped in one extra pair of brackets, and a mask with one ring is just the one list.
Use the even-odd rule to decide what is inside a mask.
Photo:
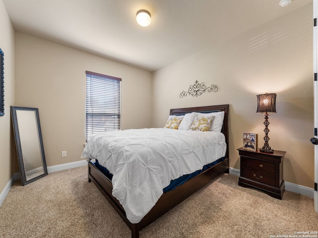
[(264, 153), (238, 149), (240, 156), (239, 185), (263, 190), (272, 197), (282, 199), (285, 191), (283, 159), (286, 151)]

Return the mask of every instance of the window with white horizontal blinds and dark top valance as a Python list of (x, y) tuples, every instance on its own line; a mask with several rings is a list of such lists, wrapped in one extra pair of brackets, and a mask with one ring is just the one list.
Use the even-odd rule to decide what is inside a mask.
[(98, 132), (120, 130), (121, 78), (86, 71), (86, 141)]

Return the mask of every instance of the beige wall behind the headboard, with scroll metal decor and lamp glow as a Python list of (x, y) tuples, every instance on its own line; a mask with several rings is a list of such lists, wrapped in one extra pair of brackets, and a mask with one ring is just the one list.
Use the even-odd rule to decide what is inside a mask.
[[(255, 113), (256, 95), (276, 93), (269, 145), (287, 151), (285, 181), (313, 187), (312, 12), (312, 4), (306, 5), (156, 71), (153, 126), (164, 125), (170, 108), (230, 104), (230, 166), (239, 169), (242, 133), (258, 133), (259, 146), (264, 144), (264, 117)], [(179, 98), (195, 80), (217, 84), (220, 91)]]

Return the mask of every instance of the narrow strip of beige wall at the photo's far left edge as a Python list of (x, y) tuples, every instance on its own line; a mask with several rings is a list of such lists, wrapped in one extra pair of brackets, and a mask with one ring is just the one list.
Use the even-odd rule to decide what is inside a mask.
[(16, 165), (11, 129), (10, 105), (14, 104), (14, 30), (0, 0), (0, 48), (4, 53), (4, 116), (0, 117), (0, 193), (11, 179)]

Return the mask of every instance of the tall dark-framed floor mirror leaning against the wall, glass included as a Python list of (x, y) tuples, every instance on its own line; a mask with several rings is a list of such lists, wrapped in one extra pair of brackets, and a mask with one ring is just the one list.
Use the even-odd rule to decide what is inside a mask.
[(37, 108), (10, 107), (22, 185), (48, 175)]

